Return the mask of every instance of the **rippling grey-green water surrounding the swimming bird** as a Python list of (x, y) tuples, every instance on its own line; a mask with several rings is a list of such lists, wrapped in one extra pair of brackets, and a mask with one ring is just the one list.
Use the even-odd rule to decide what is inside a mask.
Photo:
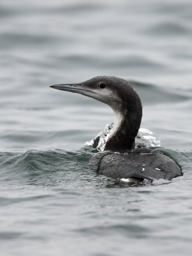
[[(191, 1), (0, 3), (1, 255), (191, 255)], [(142, 127), (182, 165), (129, 186), (90, 170), (108, 106), (51, 90), (108, 75), (143, 101)]]

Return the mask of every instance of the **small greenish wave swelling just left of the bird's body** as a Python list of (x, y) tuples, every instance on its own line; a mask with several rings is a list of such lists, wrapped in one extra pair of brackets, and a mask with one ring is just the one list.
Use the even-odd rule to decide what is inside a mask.
[[(25, 153), (0, 153), (3, 184), (56, 186), (67, 182), (82, 186), (92, 172), (88, 166), (91, 153), (86, 150), (28, 150)], [(80, 179), (79, 179), (80, 177)], [(84, 186), (84, 184), (83, 184)]]

